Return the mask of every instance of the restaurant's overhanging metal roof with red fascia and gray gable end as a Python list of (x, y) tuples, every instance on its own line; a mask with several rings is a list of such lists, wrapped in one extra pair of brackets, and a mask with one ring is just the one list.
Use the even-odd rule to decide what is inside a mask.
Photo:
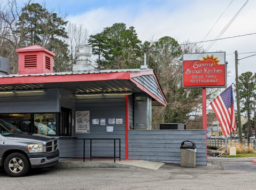
[[(147, 77), (149, 80), (147, 85), (142, 82), (137, 83), (134, 80), (136, 77), (144, 75), (152, 75), (151, 77)], [(1, 75), (0, 78), (3, 78), (0, 80), (0, 91), (65, 89), (72, 93), (146, 92), (152, 97), (152, 105), (166, 105), (164, 94), (161, 91), (156, 76), (154, 76), (153, 69), (91, 70), (79, 73)]]

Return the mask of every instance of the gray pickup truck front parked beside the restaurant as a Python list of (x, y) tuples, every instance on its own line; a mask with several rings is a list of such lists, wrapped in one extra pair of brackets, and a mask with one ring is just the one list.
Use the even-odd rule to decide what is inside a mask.
[(0, 167), (7, 175), (21, 177), (30, 168), (58, 163), (58, 141), (42, 134), (24, 133), (0, 119)]

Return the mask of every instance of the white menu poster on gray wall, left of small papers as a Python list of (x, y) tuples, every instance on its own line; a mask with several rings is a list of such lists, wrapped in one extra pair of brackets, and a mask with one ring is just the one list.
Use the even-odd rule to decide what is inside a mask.
[(75, 112), (75, 133), (90, 133), (90, 111)]

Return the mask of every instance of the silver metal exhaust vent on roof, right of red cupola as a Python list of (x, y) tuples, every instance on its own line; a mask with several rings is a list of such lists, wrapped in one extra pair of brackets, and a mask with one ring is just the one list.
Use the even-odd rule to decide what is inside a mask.
[(75, 55), (77, 57), (76, 64), (73, 64), (73, 72), (88, 72), (89, 70), (95, 70), (95, 67), (91, 65), (89, 58), (92, 55), (92, 47), (90, 45), (81, 44), (75, 47)]

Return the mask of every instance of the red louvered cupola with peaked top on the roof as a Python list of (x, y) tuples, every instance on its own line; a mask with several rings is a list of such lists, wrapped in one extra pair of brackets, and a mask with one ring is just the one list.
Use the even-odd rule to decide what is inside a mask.
[(23, 47), (16, 52), (19, 53), (19, 75), (53, 73), (55, 53), (39, 45)]

